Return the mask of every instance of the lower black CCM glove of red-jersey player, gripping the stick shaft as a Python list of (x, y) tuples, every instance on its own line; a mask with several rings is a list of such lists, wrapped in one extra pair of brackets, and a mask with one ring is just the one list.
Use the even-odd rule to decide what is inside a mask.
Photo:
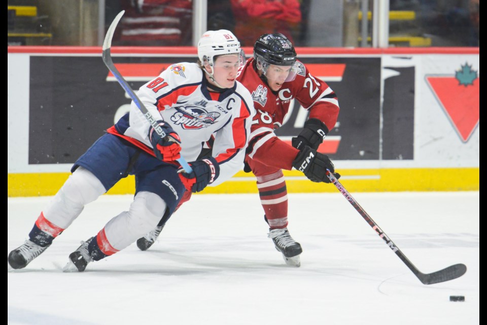
[(330, 158), (326, 154), (317, 152), (308, 146), (301, 150), (293, 161), (293, 167), (313, 182), (330, 183), (330, 179), (326, 176), (326, 170), (329, 169), (331, 173), (340, 178), (340, 174), (335, 173), (335, 167)]

